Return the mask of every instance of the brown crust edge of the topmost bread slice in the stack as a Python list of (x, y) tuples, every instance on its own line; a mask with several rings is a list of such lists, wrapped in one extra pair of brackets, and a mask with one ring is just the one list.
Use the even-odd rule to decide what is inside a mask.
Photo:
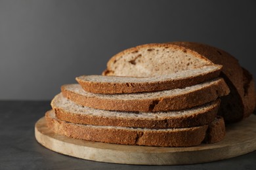
[[(217, 66), (217, 65), (216, 65)], [(202, 73), (201, 75), (177, 78), (172, 80), (163, 80), (158, 82), (132, 82), (132, 83), (118, 83), (118, 82), (93, 82), (89, 80), (83, 80), (82, 78), (75, 78), (81, 85), (83, 90), (91, 93), (137, 93), (137, 92), (154, 92), (160, 90), (171, 90), (175, 88), (185, 88), (206, 82), (213, 78), (216, 78), (221, 73), (221, 65), (218, 70), (208, 73)]]

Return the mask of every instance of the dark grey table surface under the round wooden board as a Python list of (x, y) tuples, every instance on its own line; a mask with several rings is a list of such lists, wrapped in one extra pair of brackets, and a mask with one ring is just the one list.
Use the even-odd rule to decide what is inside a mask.
[(35, 141), (34, 125), (50, 101), (0, 101), (0, 169), (256, 169), (256, 151), (195, 165), (121, 165), (58, 154)]

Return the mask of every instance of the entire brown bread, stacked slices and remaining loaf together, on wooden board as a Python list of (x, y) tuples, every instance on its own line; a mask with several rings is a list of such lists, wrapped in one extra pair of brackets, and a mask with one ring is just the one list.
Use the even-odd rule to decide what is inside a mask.
[[(61, 135), (102, 143), (196, 146), (221, 141), (224, 119), (236, 122), (254, 110), (252, 76), (238, 65), (238, 83), (229, 74), (237, 68), (226, 66), (236, 65), (236, 59), (217, 63), (182, 43), (124, 50), (110, 59), (102, 75), (79, 76), (79, 84), (62, 86), (51, 102), (53, 110), (45, 114), (48, 126)], [(228, 105), (240, 110), (226, 112)]]

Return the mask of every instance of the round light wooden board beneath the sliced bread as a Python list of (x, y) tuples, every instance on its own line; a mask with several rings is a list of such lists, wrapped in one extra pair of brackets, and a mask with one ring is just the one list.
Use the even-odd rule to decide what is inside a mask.
[(55, 152), (85, 160), (136, 165), (184, 165), (224, 160), (256, 150), (256, 116), (226, 127), (226, 137), (215, 144), (193, 147), (130, 146), (97, 143), (58, 135), (45, 118), (35, 124), (35, 138)]

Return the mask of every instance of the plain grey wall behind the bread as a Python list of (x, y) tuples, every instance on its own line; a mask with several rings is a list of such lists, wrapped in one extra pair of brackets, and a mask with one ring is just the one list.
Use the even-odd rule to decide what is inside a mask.
[(0, 99), (51, 99), (149, 42), (223, 48), (256, 76), (255, 1), (0, 0)]

